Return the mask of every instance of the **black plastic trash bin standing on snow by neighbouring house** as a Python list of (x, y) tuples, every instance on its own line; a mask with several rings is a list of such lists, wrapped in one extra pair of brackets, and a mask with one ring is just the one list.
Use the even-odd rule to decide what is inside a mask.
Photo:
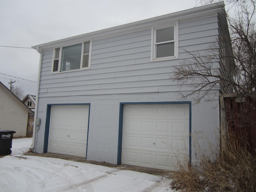
[(16, 131), (0, 129), (0, 155), (10, 155), (12, 153), (12, 137)]

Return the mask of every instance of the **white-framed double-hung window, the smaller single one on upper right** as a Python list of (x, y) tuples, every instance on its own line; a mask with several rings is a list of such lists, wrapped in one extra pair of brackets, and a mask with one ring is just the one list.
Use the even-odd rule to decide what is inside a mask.
[(176, 26), (153, 28), (152, 61), (178, 58), (178, 32)]

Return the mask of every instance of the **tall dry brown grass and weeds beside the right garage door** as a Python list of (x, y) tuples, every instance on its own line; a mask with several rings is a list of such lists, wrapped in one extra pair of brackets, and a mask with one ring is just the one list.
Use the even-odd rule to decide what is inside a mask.
[(190, 166), (189, 161), (186, 164), (179, 162), (172, 188), (188, 192), (256, 191), (256, 156), (238, 144), (234, 137), (214, 159), (201, 153), (198, 164)]

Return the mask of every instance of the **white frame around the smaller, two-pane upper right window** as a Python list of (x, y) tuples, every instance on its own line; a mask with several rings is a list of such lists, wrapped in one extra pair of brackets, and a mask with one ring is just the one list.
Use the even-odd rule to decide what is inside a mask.
[[(169, 27), (174, 27), (174, 56), (168, 56), (168, 57), (161, 57), (161, 58), (156, 58), (156, 30), (158, 29), (164, 29), (164, 28), (169, 28)], [(151, 61), (162, 61), (162, 60), (172, 60), (172, 59), (178, 59), (178, 54), (179, 54), (179, 45), (178, 45), (178, 22), (174, 24), (168, 24), (168, 25), (161, 25), (161, 26), (156, 26), (152, 27), (151, 29)]]

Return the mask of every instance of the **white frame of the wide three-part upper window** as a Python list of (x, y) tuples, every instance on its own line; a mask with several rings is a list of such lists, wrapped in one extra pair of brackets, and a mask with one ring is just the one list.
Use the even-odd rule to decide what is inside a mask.
[[(88, 59), (88, 67), (82, 67), (83, 66), (83, 56), (84, 56), (84, 44), (86, 42), (90, 42), (90, 48), (89, 48), (89, 59)], [(65, 70), (65, 71), (60, 71), (61, 69), (61, 59), (62, 59), (62, 50), (64, 47), (67, 46), (72, 46), (72, 45), (77, 45), (77, 44), (81, 44), (81, 43), (76, 43), (76, 44), (69, 44), (69, 45), (65, 45), (65, 46), (60, 46), (60, 47), (55, 47), (54, 51), (53, 51), (53, 59), (52, 59), (52, 73), (64, 73), (64, 72), (71, 72), (71, 71), (76, 71), (76, 70), (86, 70), (86, 69), (90, 69), (91, 67), (91, 52), (92, 52), (92, 40), (88, 40), (88, 41), (84, 41), (82, 42), (82, 50), (81, 50), (81, 61), (80, 61), (80, 68), (79, 69), (74, 69), (74, 70)], [(59, 54), (59, 58), (58, 58), (58, 70), (57, 71), (53, 71), (54, 70), (54, 60), (55, 60), (55, 53), (56, 53), (56, 49), (60, 49), (60, 54)]]

